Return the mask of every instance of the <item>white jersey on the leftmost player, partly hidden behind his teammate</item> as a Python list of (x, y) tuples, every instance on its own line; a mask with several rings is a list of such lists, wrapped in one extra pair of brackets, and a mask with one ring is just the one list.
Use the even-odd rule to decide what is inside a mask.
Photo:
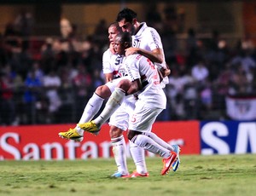
[(107, 49), (102, 56), (102, 71), (104, 74), (113, 73), (113, 78), (125, 76), (125, 67), (123, 66), (123, 58), (120, 55), (113, 54)]

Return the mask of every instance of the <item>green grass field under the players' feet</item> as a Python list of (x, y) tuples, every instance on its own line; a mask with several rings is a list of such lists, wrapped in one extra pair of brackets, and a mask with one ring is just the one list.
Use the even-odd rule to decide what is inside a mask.
[[(148, 178), (112, 179), (113, 159), (0, 161), (0, 195), (225, 195), (254, 196), (256, 155), (181, 157), (179, 170), (160, 176), (161, 159), (148, 158)], [(130, 170), (134, 164), (128, 159)]]

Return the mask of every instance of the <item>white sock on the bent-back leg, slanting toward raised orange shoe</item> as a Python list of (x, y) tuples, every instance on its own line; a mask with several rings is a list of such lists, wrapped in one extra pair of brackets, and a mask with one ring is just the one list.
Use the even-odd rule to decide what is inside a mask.
[(144, 149), (148, 150), (150, 153), (159, 154), (163, 158), (170, 157), (170, 150), (160, 146), (157, 142), (155, 142), (147, 135), (136, 135), (131, 139), (131, 141), (137, 144), (137, 146), (143, 147)]

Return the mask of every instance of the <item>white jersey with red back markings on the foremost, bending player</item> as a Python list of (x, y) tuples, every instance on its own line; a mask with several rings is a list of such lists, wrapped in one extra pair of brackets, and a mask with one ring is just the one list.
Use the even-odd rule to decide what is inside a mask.
[(152, 61), (143, 55), (129, 55), (125, 59), (125, 69), (131, 81), (141, 78), (143, 89), (138, 92), (139, 100), (150, 107), (166, 108), (166, 94)]

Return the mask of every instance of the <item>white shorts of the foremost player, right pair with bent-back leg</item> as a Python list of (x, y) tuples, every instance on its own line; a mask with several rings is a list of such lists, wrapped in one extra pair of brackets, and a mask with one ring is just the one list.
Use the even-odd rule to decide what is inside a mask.
[(155, 119), (163, 109), (145, 105), (141, 100), (137, 100), (135, 106), (135, 110), (129, 119), (129, 130), (150, 132)]

